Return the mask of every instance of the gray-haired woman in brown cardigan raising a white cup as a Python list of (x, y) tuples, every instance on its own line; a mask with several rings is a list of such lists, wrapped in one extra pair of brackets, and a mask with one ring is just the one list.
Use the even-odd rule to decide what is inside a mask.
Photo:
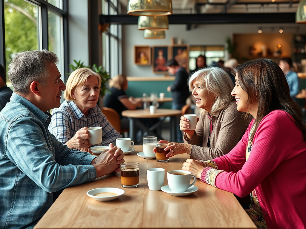
[(196, 130), (189, 130), (189, 120), (182, 116), (185, 143), (170, 143), (166, 157), (187, 153), (191, 159), (206, 161), (229, 153), (248, 126), (231, 96), (230, 76), (219, 67), (204, 68), (189, 78), (188, 85), (200, 108)]

